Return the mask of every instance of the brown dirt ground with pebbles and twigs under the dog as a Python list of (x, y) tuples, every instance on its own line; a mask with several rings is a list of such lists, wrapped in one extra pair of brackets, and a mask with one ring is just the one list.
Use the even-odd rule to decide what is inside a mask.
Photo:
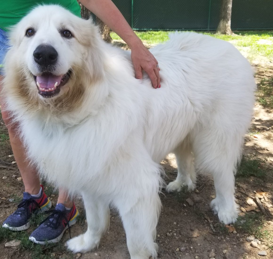
[[(273, 65), (255, 63), (256, 80), (273, 77)], [(240, 112), (240, 111), (238, 111)], [(0, 165), (13, 167), (16, 170), (0, 168), (0, 222), (16, 209), (16, 200), (23, 191), (22, 181), (16, 165), (7, 165), (4, 162), (13, 162), (14, 158), (8, 139), (3, 139), (7, 131), (3, 121), (0, 121)], [(212, 132), (213, 134), (213, 132)], [(213, 180), (210, 175), (199, 175), (197, 189), (194, 192), (168, 194), (162, 192), (162, 212), (157, 227), (156, 242), (159, 244), (158, 258), (261, 258), (260, 251), (266, 251), (265, 258), (273, 258), (273, 117), (272, 110), (263, 108), (256, 103), (251, 128), (245, 136), (244, 154), (254, 159), (264, 159), (261, 166), (266, 171), (265, 178), (240, 177), (236, 180), (236, 200), (240, 207), (247, 212), (240, 213), (238, 222), (233, 226), (219, 224), (217, 216), (210, 210), (209, 203), (215, 196)], [(177, 166), (174, 155), (170, 154), (161, 162), (165, 168), (167, 183), (176, 178)], [(3, 178), (4, 177), (4, 178)], [(57, 195), (49, 192), (53, 204), (56, 204)], [(265, 211), (259, 206), (249, 206), (247, 195), (258, 197)], [(190, 200), (188, 200), (188, 198)], [(10, 199), (15, 199), (14, 201)], [(80, 220), (71, 228), (74, 237), (87, 229), (84, 218), (84, 208), (79, 198), (76, 205), (81, 214)], [(242, 209), (244, 211), (244, 209)], [(247, 224), (247, 225), (246, 225)], [(35, 226), (28, 230), (33, 231)], [(230, 233), (228, 233), (230, 232)], [(258, 247), (254, 248), (246, 240), (252, 235), (258, 239)], [(0, 239), (0, 258), (109, 258), (127, 259), (129, 252), (126, 246), (126, 236), (117, 211), (111, 210), (109, 231), (102, 237), (99, 248), (86, 254), (71, 254), (67, 252), (64, 243), (69, 238), (65, 233), (61, 245), (45, 247), (39, 255), (34, 254), (35, 246), (24, 248), (22, 245), (15, 248), (5, 248), (10, 238)], [(14, 239), (14, 238), (13, 238)], [(214, 254), (211, 253), (214, 249)], [(47, 257), (48, 256), (48, 257)]]

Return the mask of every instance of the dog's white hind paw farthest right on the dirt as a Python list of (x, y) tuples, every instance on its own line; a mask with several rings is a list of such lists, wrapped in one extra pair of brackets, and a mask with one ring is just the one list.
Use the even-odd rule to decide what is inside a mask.
[(219, 221), (224, 222), (226, 225), (234, 223), (238, 217), (239, 208), (235, 202), (230, 205), (224, 205), (215, 198), (211, 201), (210, 207), (214, 214), (218, 215)]

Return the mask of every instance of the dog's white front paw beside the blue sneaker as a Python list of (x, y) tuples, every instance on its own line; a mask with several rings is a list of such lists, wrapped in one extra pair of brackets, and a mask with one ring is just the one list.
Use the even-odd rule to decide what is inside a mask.
[(67, 248), (73, 253), (90, 252), (99, 245), (99, 240), (96, 242), (85, 234), (78, 235), (66, 242)]

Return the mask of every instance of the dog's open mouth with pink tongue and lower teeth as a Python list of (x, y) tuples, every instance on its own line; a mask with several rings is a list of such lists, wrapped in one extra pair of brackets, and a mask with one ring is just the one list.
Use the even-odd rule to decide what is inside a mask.
[(59, 76), (49, 72), (37, 76), (34, 75), (33, 77), (38, 88), (38, 94), (45, 98), (50, 98), (59, 94), (61, 87), (69, 80), (70, 74), (71, 70), (64, 75)]

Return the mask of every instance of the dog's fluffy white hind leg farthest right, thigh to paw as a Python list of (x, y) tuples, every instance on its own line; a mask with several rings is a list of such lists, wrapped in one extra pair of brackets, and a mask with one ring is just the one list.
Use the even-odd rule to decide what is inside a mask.
[(225, 224), (235, 222), (238, 216), (234, 171), (240, 158), (241, 143), (241, 134), (216, 126), (201, 132), (194, 143), (195, 164), (200, 170), (211, 173), (214, 179), (216, 198), (210, 206)]

